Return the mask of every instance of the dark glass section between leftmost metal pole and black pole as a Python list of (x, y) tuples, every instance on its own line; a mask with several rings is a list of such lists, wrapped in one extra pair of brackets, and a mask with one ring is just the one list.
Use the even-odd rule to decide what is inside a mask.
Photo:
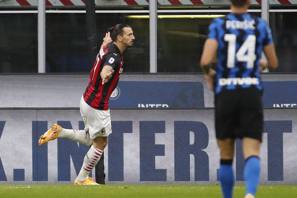
[(87, 72), (86, 14), (47, 13), (45, 72)]

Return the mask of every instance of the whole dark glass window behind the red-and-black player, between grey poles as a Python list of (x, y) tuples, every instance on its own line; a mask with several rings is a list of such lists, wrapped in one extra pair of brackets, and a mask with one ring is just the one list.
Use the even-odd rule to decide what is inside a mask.
[[(134, 16), (134, 15), (133, 15)], [(136, 40), (123, 53), (123, 72), (149, 72), (149, 18), (125, 13), (97, 14), (98, 46), (107, 29), (118, 23), (131, 25)], [(86, 14), (47, 13), (46, 72), (89, 72)]]

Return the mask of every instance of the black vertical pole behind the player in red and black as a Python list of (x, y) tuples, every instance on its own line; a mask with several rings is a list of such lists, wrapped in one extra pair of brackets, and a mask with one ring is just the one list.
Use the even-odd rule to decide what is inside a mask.
[[(96, 57), (98, 54), (97, 49), (97, 30), (96, 30), (96, 18), (95, 18), (95, 1), (86, 0), (86, 21), (87, 21), (87, 34), (88, 34), (88, 49), (89, 49), (89, 67), (90, 70), (94, 66)], [(105, 184), (104, 174), (104, 153), (95, 166), (95, 178), (99, 184)]]

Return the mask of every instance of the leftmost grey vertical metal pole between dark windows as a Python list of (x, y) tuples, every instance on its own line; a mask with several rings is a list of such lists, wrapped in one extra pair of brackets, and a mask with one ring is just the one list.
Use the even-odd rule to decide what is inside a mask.
[(38, 73), (45, 73), (45, 1), (38, 1)]

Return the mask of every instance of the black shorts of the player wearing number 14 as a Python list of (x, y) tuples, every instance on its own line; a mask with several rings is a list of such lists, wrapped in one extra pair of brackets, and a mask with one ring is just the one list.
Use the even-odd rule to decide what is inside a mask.
[(257, 88), (223, 90), (215, 95), (217, 139), (249, 137), (262, 141), (262, 91)]

